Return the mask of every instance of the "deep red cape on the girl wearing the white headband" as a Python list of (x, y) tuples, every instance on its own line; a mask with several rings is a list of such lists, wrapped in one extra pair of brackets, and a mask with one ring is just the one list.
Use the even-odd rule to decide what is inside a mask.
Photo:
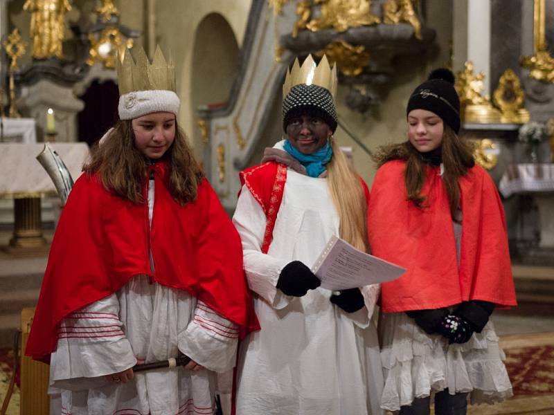
[(259, 329), (240, 237), (217, 195), (204, 179), (197, 200), (179, 205), (166, 185), (167, 168), (165, 163), (153, 168), (151, 229), (148, 203), (107, 192), (97, 176), (83, 174), (75, 183), (52, 242), (27, 356), (48, 361), (57, 325), (66, 315), (115, 293), (139, 274), (202, 300), (238, 324), (242, 336)]

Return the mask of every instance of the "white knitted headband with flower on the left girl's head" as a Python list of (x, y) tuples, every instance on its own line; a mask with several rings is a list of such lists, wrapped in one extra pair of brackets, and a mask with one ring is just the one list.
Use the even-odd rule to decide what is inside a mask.
[(153, 112), (179, 114), (181, 101), (173, 91), (134, 91), (119, 97), (118, 112), (121, 120), (132, 120)]

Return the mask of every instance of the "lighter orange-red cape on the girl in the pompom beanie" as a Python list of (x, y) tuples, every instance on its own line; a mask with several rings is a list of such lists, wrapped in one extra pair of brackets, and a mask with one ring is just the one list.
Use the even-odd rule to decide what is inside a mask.
[(482, 167), (459, 180), (462, 241), (460, 268), (445, 185), (438, 167), (427, 167), (425, 205), (407, 200), (402, 160), (377, 170), (368, 207), (373, 255), (404, 268), (399, 279), (382, 284), (385, 313), (452, 306), (481, 299), (515, 306), (506, 219), (497, 188)]

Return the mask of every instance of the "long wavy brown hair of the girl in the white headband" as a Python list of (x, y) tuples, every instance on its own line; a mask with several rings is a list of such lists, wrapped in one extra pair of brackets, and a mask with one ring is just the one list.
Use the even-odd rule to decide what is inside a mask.
[[(195, 201), (204, 174), (177, 121), (175, 140), (163, 159), (170, 167), (168, 187), (173, 199), (181, 205)], [(91, 160), (83, 169), (88, 175), (98, 174), (102, 184), (118, 196), (143, 203), (142, 187), (149, 164), (148, 158), (134, 144), (131, 120), (123, 120), (116, 123), (105, 142), (92, 147)]]

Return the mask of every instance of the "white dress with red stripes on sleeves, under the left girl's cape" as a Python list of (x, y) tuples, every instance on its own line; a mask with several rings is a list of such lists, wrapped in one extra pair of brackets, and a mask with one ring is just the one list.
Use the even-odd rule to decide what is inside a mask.
[[(152, 221), (153, 180), (148, 204)], [(188, 293), (137, 275), (67, 316), (57, 339), (50, 382), (51, 392), (61, 392), (62, 415), (211, 415), (215, 372), (235, 365), (238, 326)], [(105, 377), (178, 351), (206, 369), (137, 372), (125, 384)]]

